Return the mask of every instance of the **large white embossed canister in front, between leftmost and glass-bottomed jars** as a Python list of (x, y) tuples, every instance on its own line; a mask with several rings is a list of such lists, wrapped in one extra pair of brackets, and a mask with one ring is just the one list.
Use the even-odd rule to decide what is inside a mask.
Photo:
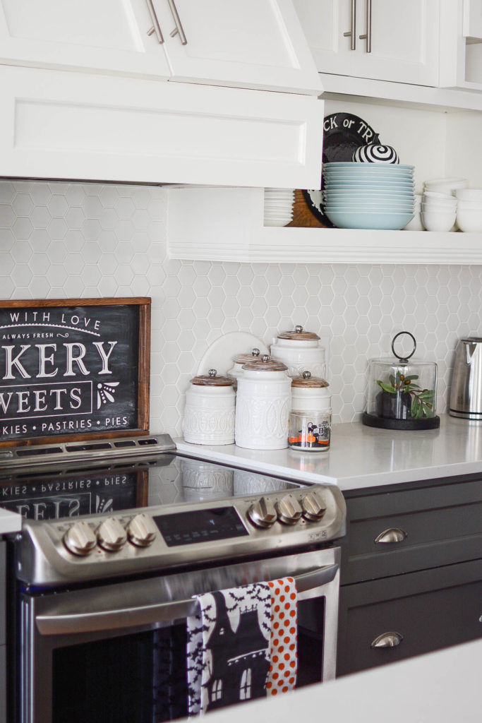
[(254, 450), (288, 447), (291, 378), (286, 366), (263, 354), (248, 361), (238, 377), (236, 445)]

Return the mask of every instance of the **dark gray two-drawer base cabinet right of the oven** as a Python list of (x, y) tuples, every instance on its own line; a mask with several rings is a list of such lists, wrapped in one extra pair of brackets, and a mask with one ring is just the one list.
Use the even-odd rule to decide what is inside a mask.
[(481, 637), (482, 480), (345, 498), (337, 675)]

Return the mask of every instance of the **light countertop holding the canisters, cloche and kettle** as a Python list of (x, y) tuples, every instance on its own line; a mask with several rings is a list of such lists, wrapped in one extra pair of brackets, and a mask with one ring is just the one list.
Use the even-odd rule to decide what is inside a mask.
[(179, 452), (275, 476), (361, 489), (436, 477), (482, 473), (482, 422), (442, 415), (439, 429), (392, 431), (361, 422), (333, 424), (330, 450), (250, 450), (236, 445), (193, 445)]

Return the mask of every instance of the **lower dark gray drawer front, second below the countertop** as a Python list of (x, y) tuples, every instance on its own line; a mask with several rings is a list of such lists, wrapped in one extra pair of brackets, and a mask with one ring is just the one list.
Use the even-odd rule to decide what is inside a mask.
[(337, 675), (482, 636), (482, 560), (340, 590)]

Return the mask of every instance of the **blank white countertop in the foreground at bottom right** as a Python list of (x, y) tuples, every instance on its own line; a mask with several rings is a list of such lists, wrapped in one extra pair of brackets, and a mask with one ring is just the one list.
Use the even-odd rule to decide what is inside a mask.
[(480, 722), (482, 641), (259, 698), (210, 713), (210, 723)]

